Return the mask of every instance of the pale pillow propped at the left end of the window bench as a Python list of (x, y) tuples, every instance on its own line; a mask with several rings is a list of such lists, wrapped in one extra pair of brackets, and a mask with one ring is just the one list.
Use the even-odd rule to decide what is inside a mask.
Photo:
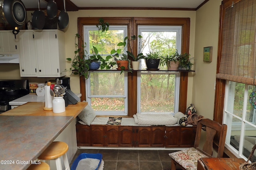
[(84, 109), (81, 111), (81, 113), (79, 113), (78, 117), (86, 125), (90, 126), (90, 124), (92, 123), (92, 121), (96, 117), (96, 113), (95, 113), (94, 109), (91, 106), (87, 105), (86, 107), (84, 107)]

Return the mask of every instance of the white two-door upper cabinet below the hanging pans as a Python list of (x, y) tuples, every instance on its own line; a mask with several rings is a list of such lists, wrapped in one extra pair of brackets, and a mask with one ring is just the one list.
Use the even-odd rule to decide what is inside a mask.
[(20, 76), (66, 75), (65, 37), (57, 29), (22, 30), (19, 33)]

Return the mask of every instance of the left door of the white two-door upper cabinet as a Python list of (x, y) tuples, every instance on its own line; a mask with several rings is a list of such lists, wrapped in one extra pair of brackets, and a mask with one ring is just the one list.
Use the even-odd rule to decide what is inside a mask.
[(36, 46), (34, 32), (25, 31), (18, 34), (20, 47), (20, 76), (36, 77)]

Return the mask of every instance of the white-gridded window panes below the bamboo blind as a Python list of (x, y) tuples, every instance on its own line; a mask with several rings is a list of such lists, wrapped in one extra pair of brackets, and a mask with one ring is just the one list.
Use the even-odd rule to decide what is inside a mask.
[(246, 159), (256, 143), (256, 88), (227, 81), (225, 96), (226, 143), (237, 156)]

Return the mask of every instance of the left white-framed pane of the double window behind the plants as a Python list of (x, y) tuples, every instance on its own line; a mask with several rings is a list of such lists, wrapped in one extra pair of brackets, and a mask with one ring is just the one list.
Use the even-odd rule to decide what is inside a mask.
[[(84, 25), (85, 50), (94, 54), (93, 46), (102, 56), (110, 55), (127, 36), (127, 26), (114, 25), (108, 31), (98, 31), (95, 25)], [(97, 115), (127, 115), (127, 73), (106, 71), (90, 72), (86, 80), (86, 101)]]

